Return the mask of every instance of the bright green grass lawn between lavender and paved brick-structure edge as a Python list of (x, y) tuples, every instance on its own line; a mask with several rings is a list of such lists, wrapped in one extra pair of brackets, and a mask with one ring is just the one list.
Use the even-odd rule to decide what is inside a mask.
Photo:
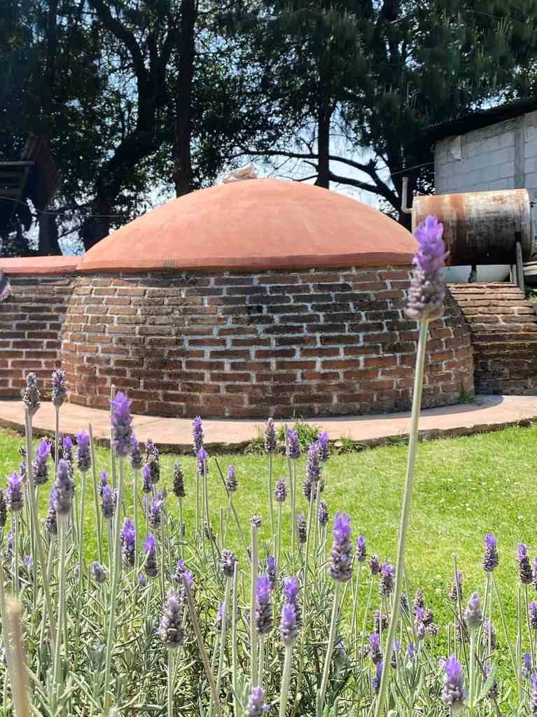
[[(146, 436), (139, 436), (144, 440)], [(153, 436), (153, 439), (158, 437)], [(207, 437), (210, 440), (210, 436)], [(417, 452), (417, 479), (414, 491), (414, 509), (407, 548), (407, 574), (410, 592), (424, 589), (426, 602), (434, 609), (436, 621), (445, 625), (449, 617), (445, 597), (452, 578), (452, 554), (457, 554), (464, 574), (464, 592), (467, 597), (474, 589), (483, 590), (484, 573), (481, 568), (483, 536), (495, 533), (498, 538), (500, 566), (496, 571), (503, 593), (508, 624), (515, 630), (517, 563), (515, 552), (518, 541), (537, 554), (536, 484), (537, 426), (526, 429), (506, 429), (500, 432), (437, 440), (419, 445)], [(0, 433), (0, 472), (4, 475), (19, 465), (20, 437)], [(98, 467), (108, 468), (109, 457), (98, 449)], [(161, 485), (171, 488), (171, 476), (176, 457), (161, 457)], [(194, 523), (194, 475), (192, 457), (181, 457), (186, 477), (185, 521)], [(376, 448), (363, 452), (333, 455), (325, 465), (324, 498), (328, 501), (331, 516), (337, 509), (350, 513), (353, 533), (366, 536), (368, 553), (381, 559), (394, 561), (396, 530), (399, 524), (402, 485), (404, 481), (407, 449), (403, 445)], [(261, 538), (268, 538), (267, 458), (255, 455), (232, 455), (219, 458), (222, 470), (232, 463), (237, 470), (239, 489), (234, 503), (244, 528), (252, 513), (264, 518)], [(300, 483), (305, 460), (298, 462)], [(286, 462), (275, 458), (275, 479), (285, 475)], [(132, 505), (132, 475), (127, 474), (128, 511)], [(226, 503), (222, 482), (214, 462), (209, 463), (209, 491), (213, 528), (218, 533), (219, 511)], [(47, 505), (47, 496), (40, 496), (41, 515)], [(299, 510), (307, 513), (305, 498), (300, 493)], [(176, 511), (174, 495), (168, 498), (168, 509)], [(290, 506), (285, 504), (283, 535), (288, 544), (290, 535)], [(87, 488), (85, 520), (85, 553), (95, 559), (95, 511), (90, 486)], [(229, 547), (240, 549), (236, 528), (229, 527)], [(531, 599), (535, 595), (531, 587)], [(495, 620), (501, 637), (499, 619)], [(503, 640), (502, 640), (503, 642)]]

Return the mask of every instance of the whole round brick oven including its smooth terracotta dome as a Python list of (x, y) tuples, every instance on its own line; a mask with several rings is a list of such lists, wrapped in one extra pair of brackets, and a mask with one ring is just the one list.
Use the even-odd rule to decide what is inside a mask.
[[(407, 409), (417, 328), (402, 308), (414, 248), (389, 217), (315, 186), (204, 189), (113, 232), (62, 277), (49, 364), (66, 369), (70, 401), (108, 407), (117, 384), (143, 414)], [(33, 277), (37, 301), (36, 282), (55, 287), (52, 274)], [(17, 299), (24, 279), (11, 280), (15, 302), (29, 304)], [(428, 353), (424, 405), (472, 391), (470, 331), (451, 296)], [(10, 381), (4, 395), (22, 371)]]

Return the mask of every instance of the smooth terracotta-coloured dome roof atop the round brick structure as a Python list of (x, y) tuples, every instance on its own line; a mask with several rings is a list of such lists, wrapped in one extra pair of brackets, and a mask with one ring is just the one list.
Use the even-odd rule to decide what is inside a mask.
[(412, 234), (310, 184), (252, 179), (181, 196), (95, 244), (79, 271), (299, 269), (409, 264)]

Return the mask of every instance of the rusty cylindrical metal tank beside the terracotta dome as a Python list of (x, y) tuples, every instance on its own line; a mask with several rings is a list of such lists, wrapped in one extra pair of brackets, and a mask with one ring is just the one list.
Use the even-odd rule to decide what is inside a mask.
[(513, 264), (517, 239), (524, 259), (531, 255), (533, 221), (527, 189), (414, 196), (412, 229), (427, 214), (444, 224), (449, 266)]

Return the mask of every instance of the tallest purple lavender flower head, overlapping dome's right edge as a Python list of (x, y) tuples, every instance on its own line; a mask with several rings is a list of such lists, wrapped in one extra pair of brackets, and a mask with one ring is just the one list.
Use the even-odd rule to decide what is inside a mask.
[(447, 256), (442, 241), (443, 231), (443, 225), (431, 215), (414, 230), (419, 247), (412, 260), (414, 270), (405, 313), (409, 318), (417, 321), (432, 320), (442, 316), (446, 293), (442, 267)]

